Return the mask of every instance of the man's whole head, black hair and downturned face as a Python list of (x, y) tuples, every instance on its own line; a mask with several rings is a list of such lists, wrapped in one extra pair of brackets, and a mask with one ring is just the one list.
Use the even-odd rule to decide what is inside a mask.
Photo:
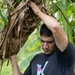
[(42, 49), (45, 54), (51, 54), (55, 50), (55, 40), (52, 32), (46, 27), (45, 24), (40, 29), (40, 40)]

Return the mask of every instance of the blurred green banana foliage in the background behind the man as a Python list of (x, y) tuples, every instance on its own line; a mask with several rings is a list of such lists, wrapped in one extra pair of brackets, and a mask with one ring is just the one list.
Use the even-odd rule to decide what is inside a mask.
[[(21, 0), (16, 0), (18, 3)], [(2, 7), (2, 3), (4, 1), (0, 0), (0, 30), (3, 29), (4, 25), (8, 23), (8, 12), (6, 5)], [(14, 8), (10, 0), (6, 0), (6, 2)], [(60, 23), (64, 31), (66, 32), (70, 42), (72, 44), (75, 43), (75, 1), (74, 0), (42, 0), (45, 4), (48, 13), (53, 15)], [(2, 7), (2, 8), (1, 8)], [(40, 25), (42, 22), (40, 23)], [(39, 28), (34, 30), (34, 32), (29, 36), (25, 45), (21, 48), (20, 52), (17, 55), (18, 64), (21, 72), (23, 73), (26, 67), (28, 66), (30, 60), (33, 58), (35, 54), (41, 52), (40, 39), (39, 39)], [(11, 62), (7, 66), (8, 60), (4, 61), (1, 75), (11, 75)]]

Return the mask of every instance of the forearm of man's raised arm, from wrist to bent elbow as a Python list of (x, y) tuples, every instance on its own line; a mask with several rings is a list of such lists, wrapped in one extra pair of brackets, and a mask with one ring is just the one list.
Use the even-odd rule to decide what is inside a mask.
[(46, 24), (46, 26), (54, 32), (55, 28), (57, 26), (60, 26), (57, 20), (47, 14), (44, 14), (43, 12), (39, 11), (37, 12), (37, 15), (43, 20), (43, 22)]

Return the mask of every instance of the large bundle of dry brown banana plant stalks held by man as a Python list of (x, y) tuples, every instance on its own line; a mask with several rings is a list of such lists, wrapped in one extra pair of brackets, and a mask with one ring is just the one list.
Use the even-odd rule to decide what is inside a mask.
[(0, 59), (7, 59), (12, 54), (18, 53), (25, 44), (28, 36), (41, 21), (36, 16), (28, 3), (32, 1), (46, 13), (41, 0), (22, 0), (19, 4), (16, 0), (10, 0), (13, 9), (8, 5), (8, 25), (0, 31)]

